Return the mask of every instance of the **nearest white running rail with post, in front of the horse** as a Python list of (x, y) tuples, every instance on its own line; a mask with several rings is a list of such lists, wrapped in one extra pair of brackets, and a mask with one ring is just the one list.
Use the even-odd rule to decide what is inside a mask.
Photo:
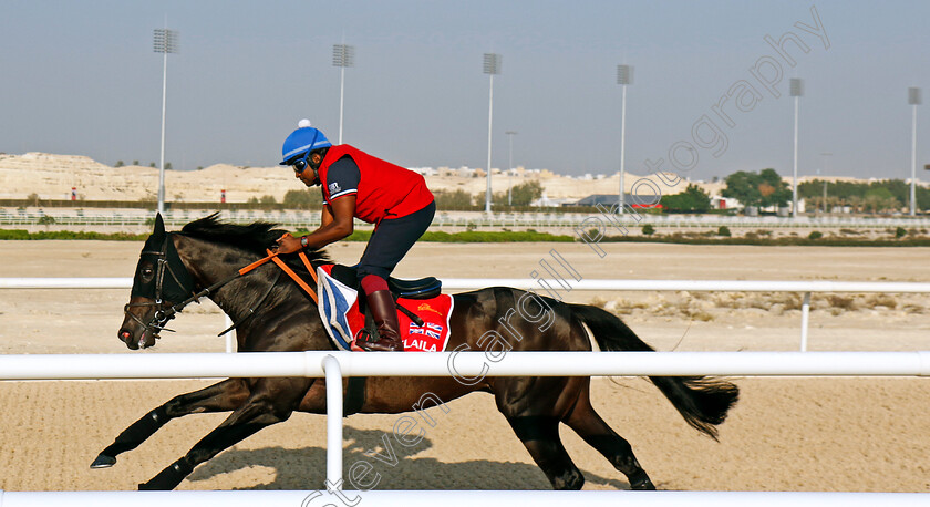
[[(344, 505), (371, 506), (917, 506), (928, 494), (691, 493), (691, 492), (343, 492), (342, 379), (345, 376), (525, 375), (827, 375), (930, 376), (930, 351), (921, 352), (510, 352), (492, 361), (484, 352), (392, 354), (356, 352), (252, 352), (240, 354), (0, 355), (0, 380), (190, 379), (312, 376), (327, 379), (327, 493), (159, 492), (2, 493), (0, 507), (137, 505), (311, 505), (333, 495)], [(337, 466), (339, 465), (339, 466)], [(330, 503), (337, 505), (335, 503)], [(255, 504), (248, 504), (255, 505)]]

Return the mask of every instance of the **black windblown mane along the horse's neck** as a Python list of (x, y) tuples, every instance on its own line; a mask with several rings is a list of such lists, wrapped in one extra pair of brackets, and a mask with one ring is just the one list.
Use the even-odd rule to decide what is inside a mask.
[[(247, 225), (221, 221), (219, 213), (206, 216), (185, 225), (180, 234), (206, 241), (221, 242), (265, 257), (267, 248), (287, 230), (276, 229), (278, 224), (254, 221)], [(311, 261), (328, 260), (326, 250), (304, 250)]]

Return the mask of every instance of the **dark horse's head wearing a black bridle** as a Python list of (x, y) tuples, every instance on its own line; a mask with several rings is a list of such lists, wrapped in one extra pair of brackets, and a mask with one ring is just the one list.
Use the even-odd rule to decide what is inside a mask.
[(162, 215), (145, 241), (133, 278), (130, 302), (118, 337), (132, 350), (155, 344), (165, 323), (177, 312), (176, 304), (194, 293), (194, 280), (175, 249), (172, 234), (165, 232)]

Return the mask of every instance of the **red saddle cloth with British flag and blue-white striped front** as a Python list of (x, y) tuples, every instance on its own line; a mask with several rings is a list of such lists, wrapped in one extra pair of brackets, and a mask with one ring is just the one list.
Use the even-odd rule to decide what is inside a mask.
[[(320, 318), (338, 349), (358, 351), (360, 349), (353, 348), (353, 342), (365, 327), (365, 315), (359, 309), (359, 291), (332, 276), (334, 266), (323, 265), (317, 268)], [(450, 338), (452, 296), (440, 294), (430, 299), (400, 298), (397, 304), (423, 320), (423, 325), (417, 325), (404, 312), (397, 312), (404, 352), (445, 351)]]

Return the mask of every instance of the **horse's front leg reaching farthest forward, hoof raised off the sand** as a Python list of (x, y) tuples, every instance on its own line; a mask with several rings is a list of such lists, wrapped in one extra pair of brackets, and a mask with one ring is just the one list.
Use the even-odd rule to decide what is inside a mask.
[(97, 455), (91, 468), (113, 466), (118, 454), (138, 447), (175, 417), (205, 412), (234, 411), (241, 406), (248, 396), (249, 387), (241, 379), (228, 379), (209, 387), (175, 396), (124, 430), (108, 447)]

